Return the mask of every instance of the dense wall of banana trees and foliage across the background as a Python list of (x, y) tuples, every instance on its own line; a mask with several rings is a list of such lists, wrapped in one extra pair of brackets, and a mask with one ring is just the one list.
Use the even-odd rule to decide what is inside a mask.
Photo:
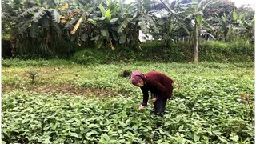
[(65, 58), (86, 47), (140, 50), (138, 30), (160, 39), (159, 50), (190, 42), (195, 63), (201, 37), (254, 45), (254, 10), (222, 0), (2, 0), (2, 8), (2, 55), (12, 58)]

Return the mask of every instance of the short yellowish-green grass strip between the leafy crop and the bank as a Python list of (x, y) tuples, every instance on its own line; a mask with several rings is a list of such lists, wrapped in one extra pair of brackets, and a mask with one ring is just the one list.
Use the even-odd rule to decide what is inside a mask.
[[(174, 79), (179, 78), (216, 78), (237, 75), (238, 77), (253, 78), (254, 62), (246, 63), (168, 63), (168, 62), (133, 62), (98, 65), (78, 65), (63, 60), (43, 61), (16, 61), (8, 60), (9, 66), (2, 67), (2, 84), (26, 84), (30, 78), (27, 71), (38, 72), (38, 84), (72, 83), (81, 86), (84, 82), (107, 81), (110, 78), (118, 79), (123, 70), (141, 70), (146, 73), (158, 70)], [(6, 65), (6, 64), (5, 64)], [(12, 75), (12, 76), (10, 76)], [(119, 78), (120, 79), (120, 78)]]

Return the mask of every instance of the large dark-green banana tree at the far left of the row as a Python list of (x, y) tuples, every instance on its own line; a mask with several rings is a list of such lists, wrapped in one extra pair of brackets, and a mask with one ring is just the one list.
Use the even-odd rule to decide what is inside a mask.
[[(51, 41), (51, 36), (53, 33), (60, 34), (61, 29), (58, 27), (58, 11), (50, 7), (50, 5), (53, 6), (52, 3), (47, 2), (48, 1), (17, 0), (15, 3), (8, 3), (10, 8), (15, 7), (13, 13), (10, 14), (13, 18), (10, 19), (10, 23), (16, 25), (11, 28), (15, 32), (12, 33), (12, 37), (14, 37), (14, 41), (17, 43), (17, 50), (25, 50), (24, 47), (26, 46), (24, 45), (26, 43), (28, 47), (34, 47), (33, 49), (35, 51), (50, 51), (48, 45)], [(4, 14), (4, 12), (2, 14)], [(40, 50), (38, 50), (38, 47), (34, 46), (34, 44), (39, 44)], [(24, 49), (22, 49), (22, 47)], [(26, 48), (26, 50), (30, 51), (28, 48)]]

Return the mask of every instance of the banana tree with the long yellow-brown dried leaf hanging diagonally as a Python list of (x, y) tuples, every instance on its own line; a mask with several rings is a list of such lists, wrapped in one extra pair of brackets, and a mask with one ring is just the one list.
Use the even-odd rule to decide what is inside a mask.
[(91, 24), (89, 18), (98, 18), (101, 16), (96, 9), (100, 0), (74, 0), (67, 1), (60, 9), (61, 24), (66, 38), (71, 42), (76, 41), (79, 46), (84, 43), (86, 46), (93, 45), (92, 38), (98, 32), (98, 28)]

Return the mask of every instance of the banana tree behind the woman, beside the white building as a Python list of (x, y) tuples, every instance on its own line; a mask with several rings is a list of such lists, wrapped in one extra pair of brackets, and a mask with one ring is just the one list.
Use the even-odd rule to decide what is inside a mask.
[(122, 24), (119, 26), (118, 33), (126, 35), (126, 43), (131, 47), (141, 49), (138, 39), (139, 30), (142, 30), (144, 34), (159, 33), (154, 15), (148, 11), (149, 5), (148, 0), (139, 0), (127, 6), (126, 13), (122, 12)]

